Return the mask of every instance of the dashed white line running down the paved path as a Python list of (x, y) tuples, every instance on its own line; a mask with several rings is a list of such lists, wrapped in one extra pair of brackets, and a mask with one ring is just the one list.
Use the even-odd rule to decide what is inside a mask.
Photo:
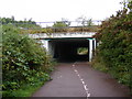
[[(76, 62), (76, 63), (77, 63), (77, 62)], [(79, 79), (80, 79), (80, 81), (81, 81), (81, 84), (82, 84), (82, 86), (84, 86), (84, 89), (85, 89), (85, 91), (86, 91), (87, 99), (89, 99), (90, 92), (89, 92), (88, 87), (87, 87), (87, 85), (85, 84), (84, 79), (80, 77), (78, 70), (75, 68), (76, 63), (73, 64), (74, 72), (75, 72), (75, 73), (77, 74), (77, 76), (79, 77)]]

